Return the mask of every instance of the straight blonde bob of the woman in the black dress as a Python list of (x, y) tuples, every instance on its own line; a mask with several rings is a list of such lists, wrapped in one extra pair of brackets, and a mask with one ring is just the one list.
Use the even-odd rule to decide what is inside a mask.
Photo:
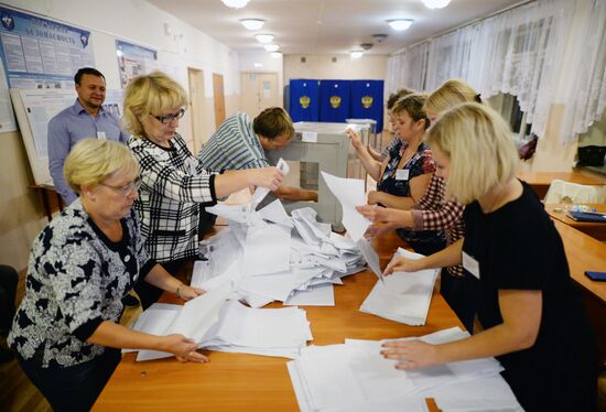
[(516, 176), (518, 152), (506, 121), (487, 105), (467, 102), (442, 115), (426, 142), (451, 160), (446, 197), (469, 204)]

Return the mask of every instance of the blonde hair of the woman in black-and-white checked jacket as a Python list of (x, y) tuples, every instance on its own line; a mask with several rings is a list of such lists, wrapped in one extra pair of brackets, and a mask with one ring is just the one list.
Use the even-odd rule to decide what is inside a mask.
[(162, 72), (153, 72), (136, 77), (128, 84), (122, 121), (132, 135), (142, 137), (142, 116), (155, 116), (186, 104), (187, 95), (178, 83)]

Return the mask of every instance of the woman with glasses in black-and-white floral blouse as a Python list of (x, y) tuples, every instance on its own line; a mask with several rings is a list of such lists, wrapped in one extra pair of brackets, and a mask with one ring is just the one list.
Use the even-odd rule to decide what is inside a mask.
[(64, 166), (79, 197), (33, 242), (25, 296), (8, 343), (53, 410), (89, 410), (120, 361), (120, 348), (207, 361), (185, 336), (154, 336), (119, 325), (121, 299), (140, 281), (183, 300), (203, 293), (171, 277), (143, 248), (132, 210), (138, 174), (126, 145), (82, 140)]

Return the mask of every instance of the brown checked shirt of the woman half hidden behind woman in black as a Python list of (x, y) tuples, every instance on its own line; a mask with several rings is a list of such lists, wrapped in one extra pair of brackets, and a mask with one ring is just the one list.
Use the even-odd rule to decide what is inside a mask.
[[(456, 200), (444, 202), (446, 187), (444, 180), (432, 176), (425, 194), (414, 205), (412, 219), (414, 230), (445, 230), (448, 245), (454, 243), (465, 236), (465, 224), (463, 221), (463, 210), (465, 206)], [(463, 277), (463, 267), (456, 265), (446, 268), (453, 277)]]

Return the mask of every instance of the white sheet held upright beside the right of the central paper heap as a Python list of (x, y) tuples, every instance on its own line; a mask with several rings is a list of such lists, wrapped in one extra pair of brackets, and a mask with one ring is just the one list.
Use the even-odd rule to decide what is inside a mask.
[(343, 208), (343, 226), (354, 239), (364, 238), (370, 220), (356, 210), (356, 206), (366, 205), (364, 181), (358, 178), (343, 178), (322, 172), (326, 185), (333, 192)]

